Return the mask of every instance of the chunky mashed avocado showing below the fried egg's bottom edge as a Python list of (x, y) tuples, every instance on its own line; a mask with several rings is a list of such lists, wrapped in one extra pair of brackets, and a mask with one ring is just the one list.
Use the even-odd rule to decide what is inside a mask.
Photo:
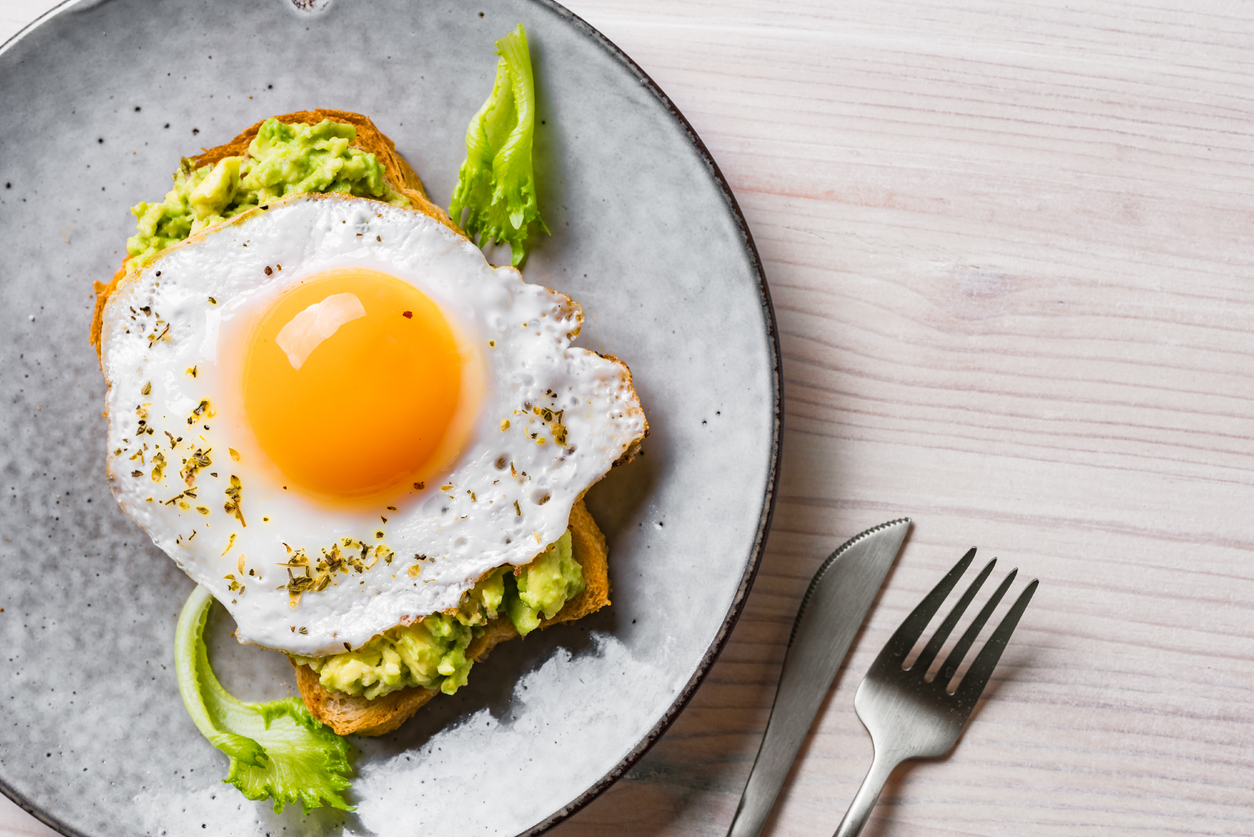
[(523, 636), (535, 630), (540, 615), (552, 619), (583, 591), (583, 568), (574, 558), (571, 531), (525, 567), (497, 567), (461, 597), (456, 612), (431, 614), (413, 625), (398, 625), (354, 651), (295, 660), (319, 673), (327, 691), (369, 699), (406, 686), (453, 694), (466, 684), (474, 660), (466, 646), (504, 609)]

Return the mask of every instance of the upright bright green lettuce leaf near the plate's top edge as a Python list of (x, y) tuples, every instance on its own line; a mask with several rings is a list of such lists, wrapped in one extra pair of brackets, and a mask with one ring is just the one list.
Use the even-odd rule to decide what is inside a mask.
[(466, 128), (466, 158), (449, 216), (480, 247), (489, 241), (508, 242), (517, 267), (527, 255), (530, 226), (538, 223), (548, 232), (535, 203), (535, 85), (523, 24), (497, 41), (497, 55), (492, 95)]

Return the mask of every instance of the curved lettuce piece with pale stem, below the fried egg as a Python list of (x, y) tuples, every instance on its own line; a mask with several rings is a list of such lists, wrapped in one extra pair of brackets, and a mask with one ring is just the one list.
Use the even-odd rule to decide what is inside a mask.
[(231, 758), (223, 782), (252, 801), (273, 799), (275, 813), (300, 802), (308, 813), (329, 806), (352, 811), (349, 744), (325, 729), (297, 698), (243, 703), (222, 688), (209, 668), (204, 620), (213, 596), (197, 587), (183, 605), (174, 634), (174, 670), (183, 705), (201, 734)]

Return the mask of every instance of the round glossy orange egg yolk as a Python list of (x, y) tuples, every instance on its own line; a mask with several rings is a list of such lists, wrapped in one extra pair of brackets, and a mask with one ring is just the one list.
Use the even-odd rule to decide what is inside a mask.
[(461, 389), (463, 356), (440, 309), (372, 270), (305, 280), (246, 349), (245, 412), (262, 450), (322, 494), (377, 493), (444, 464), (434, 459)]

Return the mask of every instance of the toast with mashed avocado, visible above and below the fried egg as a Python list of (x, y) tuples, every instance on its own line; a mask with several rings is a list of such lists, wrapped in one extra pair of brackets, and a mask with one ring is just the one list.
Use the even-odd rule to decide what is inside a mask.
[[(325, 172), (332, 166), (308, 159), (315, 153), (326, 156), (327, 147), (335, 149), (339, 166), (331, 177)], [(252, 157), (258, 148), (261, 153)], [(247, 188), (248, 174), (263, 166), (292, 174), (287, 179), (271, 174), (261, 188)], [(315, 177), (320, 172), (321, 179)], [(113, 282), (97, 285), (92, 338), (98, 350), (105, 304), (137, 266), (179, 246), (181, 235), (211, 232), (245, 213), (265, 211), (268, 201), (303, 191), (357, 193), (408, 206), (464, 236), (428, 200), (416, 172), (366, 117), (340, 110), (275, 117), (184, 161), (176, 174), (176, 189), (163, 202), (135, 208), (139, 232), (128, 242), (130, 256)], [(330, 658), (292, 655), (301, 695), (314, 718), (340, 734), (391, 732), (441, 689), (451, 693), (464, 684), (470, 665), (483, 660), (498, 642), (534, 627), (579, 619), (609, 604), (606, 541), (582, 497), (572, 508), (568, 531), (564, 553), (558, 555), (558, 545), (552, 545), (533, 565), (513, 573), (488, 573), (466, 594), (459, 612), (416, 614), (413, 622)], [(532, 606), (523, 606), (519, 594), (525, 596), (529, 576)], [(308, 570), (306, 577), (312, 584)], [(542, 587), (545, 595), (537, 592)]]

